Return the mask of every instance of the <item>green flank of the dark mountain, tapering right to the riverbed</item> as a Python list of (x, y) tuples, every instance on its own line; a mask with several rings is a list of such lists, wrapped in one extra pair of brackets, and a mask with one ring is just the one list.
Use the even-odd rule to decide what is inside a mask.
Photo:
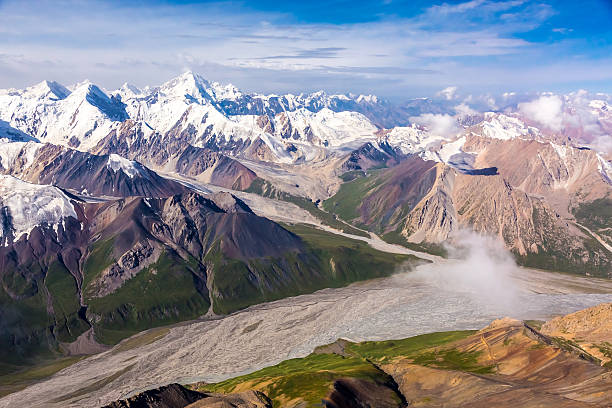
[[(307, 252), (249, 262), (224, 260), (219, 251), (211, 252), (209, 261), (216, 265), (212, 294), (215, 313), (231, 313), (261, 302), (388, 276), (400, 263), (417, 261), (413, 256), (377, 251), (363, 241), (307, 225), (285, 227), (304, 240)], [(284, 268), (279, 270), (274, 265)]]

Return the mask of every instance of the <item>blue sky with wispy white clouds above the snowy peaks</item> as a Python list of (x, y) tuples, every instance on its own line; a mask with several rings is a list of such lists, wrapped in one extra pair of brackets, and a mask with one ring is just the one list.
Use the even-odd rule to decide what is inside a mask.
[(191, 69), (278, 93), (612, 92), (611, 51), (610, 0), (0, 0), (3, 88)]

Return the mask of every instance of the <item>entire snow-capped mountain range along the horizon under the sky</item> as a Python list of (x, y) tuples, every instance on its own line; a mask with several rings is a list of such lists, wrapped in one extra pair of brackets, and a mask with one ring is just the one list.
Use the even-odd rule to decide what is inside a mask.
[[(556, 97), (542, 98), (548, 99), (530, 103), (537, 107), (537, 103), (554, 103)], [(608, 99), (597, 98), (570, 94), (561, 102), (565, 106), (561, 113), (574, 115), (567, 118), (586, 118), (585, 112), (590, 112), (589, 118), (599, 126), (592, 138), (601, 137), (606, 123), (612, 127)], [(398, 108), (371, 95), (249, 94), (192, 72), (158, 87), (124, 84), (108, 93), (89, 82), (64, 87), (44, 81), (25, 90), (0, 91), (0, 137), (30, 137), (82, 151), (122, 154), (169, 171), (175, 171), (173, 161), (187, 146), (239, 159), (294, 163), (325, 160), (365, 143), (384, 143), (402, 154), (465, 167), (470, 160), (458, 142), (463, 134), (572, 145), (588, 142), (576, 126), (570, 126), (576, 121), (563, 119), (568, 125), (559, 132), (551, 131), (551, 125), (538, 125), (542, 119), (532, 114), (532, 105), (478, 113), (467, 105), (453, 107), (456, 102), (420, 98)], [(454, 116), (448, 113), (453, 110)], [(373, 111), (378, 113), (373, 116)], [(391, 116), (406, 125), (390, 129), (377, 125), (376, 118)], [(585, 126), (580, 127), (583, 133), (590, 129)], [(594, 141), (602, 144), (600, 139)], [(119, 148), (120, 144), (125, 146)], [(151, 159), (152, 145), (165, 153)], [(607, 156), (602, 157), (606, 168)]]

